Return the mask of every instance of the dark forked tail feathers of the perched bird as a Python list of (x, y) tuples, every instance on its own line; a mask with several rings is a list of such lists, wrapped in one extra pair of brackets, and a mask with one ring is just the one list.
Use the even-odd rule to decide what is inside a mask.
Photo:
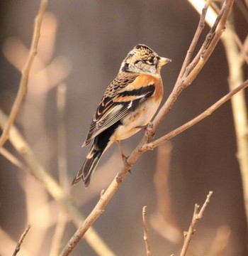
[(77, 173), (77, 176), (72, 181), (72, 186), (76, 185), (79, 181), (84, 181), (84, 186), (89, 186), (89, 182), (91, 181), (91, 176), (94, 173), (98, 161), (101, 159), (101, 155), (103, 154), (105, 147), (103, 149), (99, 149), (97, 143), (94, 142), (91, 146), (89, 153), (86, 156), (84, 164), (81, 166), (81, 169)]

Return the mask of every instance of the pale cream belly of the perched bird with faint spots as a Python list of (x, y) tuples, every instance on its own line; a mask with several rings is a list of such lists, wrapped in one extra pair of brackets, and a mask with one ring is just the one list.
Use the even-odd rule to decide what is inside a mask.
[(137, 110), (130, 112), (126, 117), (123, 117), (121, 120), (123, 125), (120, 125), (115, 130), (115, 140), (131, 137), (136, 132), (139, 132), (142, 126), (145, 126), (150, 122), (160, 103), (153, 99), (152, 101), (152, 104), (148, 101), (144, 102), (137, 108)]

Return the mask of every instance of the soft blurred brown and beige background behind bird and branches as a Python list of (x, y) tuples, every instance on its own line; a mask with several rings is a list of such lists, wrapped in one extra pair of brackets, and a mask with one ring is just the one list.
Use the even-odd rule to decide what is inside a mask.
[[(0, 107), (8, 114), (18, 90), (39, 5), (40, 1), (31, 0), (1, 1), (0, 4)], [(233, 17), (237, 33), (244, 41), (247, 19), (237, 4)], [(16, 126), (56, 180), (60, 179), (58, 151), (61, 147), (65, 149), (67, 164), (65, 183), (70, 184), (77, 174), (88, 150), (81, 149), (81, 144), (91, 118), (127, 53), (137, 43), (145, 43), (159, 55), (173, 60), (162, 69), (165, 101), (174, 87), (198, 20), (199, 15), (188, 1), (182, 0), (49, 1), (38, 57)], [(200, 43), (208, 31), (205, 26)], [(247, 68), (244, 72), (247, 77)], [(176, 100), (156, 137), (196, 117), (225, 95), (227, 80), (225, 50), (219, 43), (193, 84)], [(65, 97), (64, 110), (57, 107), (58, 94), (60, 100)], [(135, 149), (142, 134), (122, 143), (125, 154)], [(21, 159), (9, 142), (5, 148)], [(208, 191), (213, 191), (188, 255), (213, 255), (210, 250), (218, 235), (222, 235), (222, 243), (227, 245), (216, 255), (248, 255), (236, 153), (232, 110), (227, 102), (210, 117), (172, 139), (171, 144), (144, 154), (94, 228), (116, 255), (145, 255), (142, 206), (147, 206), (152, 253), (179, 255), (182, 232), (188, 230), (194, 204), (202, 205)], [(52, 255), (50, 247), (60, 207), (41, 183), (1, 155), (0, 166), (0, 254), (10, 255), (30, 224), (32, 228), (20, 255)], [(89, 188), (85, 189), (83, 183), (73, 188), (65, 185), (81, 213), (91, 212), (101, 190), (107, 188), (121, 166), (118, 147), (113, 145), (101, 159)], [(161, 193), (154, 183), (156, 171), (169, 175), (160, 191), (165, 194), (164, 213), (168, 214), (163, 220), (159, 220), (161, 207), (157, 195)], [(62, 247), (76, 230), (69, 219), (67, 222)], [(96, 255), (96, 252), (82, 240), (72, 255)]]

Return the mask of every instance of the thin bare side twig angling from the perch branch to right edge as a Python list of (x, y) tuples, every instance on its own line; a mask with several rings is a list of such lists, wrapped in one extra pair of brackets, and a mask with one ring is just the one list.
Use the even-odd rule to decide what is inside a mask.
[(227, 100), (230, 100), (233, 95), (235, 95), (240, 90), (243, 90), (245, 87), (248, 87), (248, 80), (242, 83), (242, 85), (239, 85), (235, 89), (233, 89), (231, 92), (228, 92), (227, 95), (222, 97), (220, 100), (215, 102), (211, 107), (209, 107), (207, 110), (199, 114), (197, 117), (191, 119), (190, 121), (186, 122), (185, 124), (181, 125), (180, 127), (174, 129), (173, 131), (169, 132), (168, 134), (160, 137), (159, 139), (154, 140), (154, 142), (150, 142), (148, 144), (145, 144), (142, 146), (142, 150), (152, 150), (155, 147), (159, 146), (160, 144), (169, 141), (176, 135), (180, 134), (181, 132), (184, 132), (186, 129), (192, 127), (193, 125), (200, 122), (205, 117), (208, 117), (210, 114), (212, 114), (215, 110), (217, 110), (219, 107), (221, 107)]

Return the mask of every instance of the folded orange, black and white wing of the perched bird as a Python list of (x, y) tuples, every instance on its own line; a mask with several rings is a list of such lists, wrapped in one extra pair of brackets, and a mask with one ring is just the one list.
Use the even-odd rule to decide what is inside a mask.
[(88, 145), (91, 139), (134, 111), (142, 102), (153, 95), (154, 79), (150, 77), (150, 79), (140, 80), (141, 76), (124, 73), (118, 75), (111, 82), (94, 114), (83, 146)]

